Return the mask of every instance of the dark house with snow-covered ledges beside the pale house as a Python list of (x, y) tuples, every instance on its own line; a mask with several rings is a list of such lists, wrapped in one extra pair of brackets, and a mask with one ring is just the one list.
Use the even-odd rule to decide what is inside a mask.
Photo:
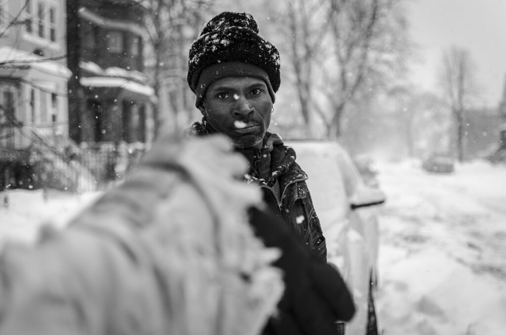
[(154, 137), (142, 18), (133, 0), (68, 2), (69, 134), (81, 147), (143, 147)]

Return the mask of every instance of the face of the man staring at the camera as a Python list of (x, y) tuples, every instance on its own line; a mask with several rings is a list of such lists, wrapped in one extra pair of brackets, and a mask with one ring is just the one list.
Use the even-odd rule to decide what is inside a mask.
[(225, 77), (207, 89), (200, 112), (237, 148), (261, 146), (271, 122), (272, 100), (264, 80)]

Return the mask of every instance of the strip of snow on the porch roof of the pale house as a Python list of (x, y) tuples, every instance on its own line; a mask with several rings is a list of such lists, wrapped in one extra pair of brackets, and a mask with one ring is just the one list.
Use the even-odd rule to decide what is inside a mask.
[(68, 78), (72, 75), (72, 72), (65, 65), (47, 59), (12, 47), (0, 48), (0, 66), (2, 67), (28, 66), (40, 72), (60, 77)]

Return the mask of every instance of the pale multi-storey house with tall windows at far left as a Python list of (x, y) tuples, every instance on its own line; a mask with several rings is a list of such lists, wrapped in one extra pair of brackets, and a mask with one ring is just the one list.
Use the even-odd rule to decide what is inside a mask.
[(57, 145), (68, 134), (71, 72), (65, 58), (65, 11), (65, 0), (0, 0), (0, 148), (4, 153), (27, 148), (34, 141)]

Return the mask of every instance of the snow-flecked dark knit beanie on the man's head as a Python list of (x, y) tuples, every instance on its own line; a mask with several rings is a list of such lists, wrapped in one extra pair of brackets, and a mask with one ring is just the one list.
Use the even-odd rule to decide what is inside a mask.
[(209, 85), (232, 76), (252, 76), (265, 81), (272, 102), (279, 89), (279, 53), (259, 36), (248, 13), (223, 12), (211, 19), (190, 48), (188, 85), (197, 108)]

